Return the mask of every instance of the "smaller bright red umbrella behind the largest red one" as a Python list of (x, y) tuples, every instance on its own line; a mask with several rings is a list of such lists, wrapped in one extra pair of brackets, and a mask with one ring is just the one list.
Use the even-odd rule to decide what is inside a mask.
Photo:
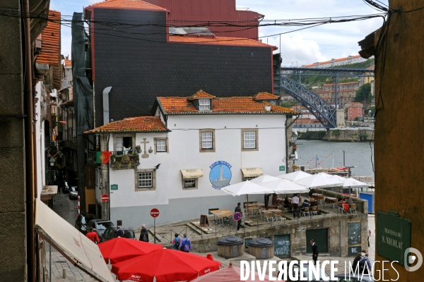
[(116, 264), (132, 257), (146, 255), (148, 252), (161, 250), (163, 246), (118, 237), (99, 244), (99, 248), (106, 263)]

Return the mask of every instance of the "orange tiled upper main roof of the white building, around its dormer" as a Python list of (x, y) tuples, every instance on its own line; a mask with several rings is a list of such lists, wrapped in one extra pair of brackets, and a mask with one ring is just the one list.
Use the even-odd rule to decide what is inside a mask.
[[(212, 99), (212, 111), (198, 111), (189, 97), (158, 97), (158, 102), (165, 114), (300, 114), (283, 106), (256, 102), (253, 97)], [(271, 106), (271, 111), (265, 106)]]

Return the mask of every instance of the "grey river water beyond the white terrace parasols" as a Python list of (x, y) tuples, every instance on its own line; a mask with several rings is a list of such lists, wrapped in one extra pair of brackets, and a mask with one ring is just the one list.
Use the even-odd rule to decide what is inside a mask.
[[(345, 151), (346, 166), (356, 166), (351, 168), (352, 176), (372, 176), (374, 172), (372, 163), (374, 162), (374, 142), (326, 142), (319, 140), (298, 140), (298, 160), (297, 165), (309, 165), (306, 168), (331, 168), (343, 166), (343, 152)], [(318, 158), (317, 158), (318, 156)], [(333, 164), (334, 156), (334, 164)], [(372, 161), (371, 161), (372, 158)], [(316, 159), (317, 162), (316, 162)]]

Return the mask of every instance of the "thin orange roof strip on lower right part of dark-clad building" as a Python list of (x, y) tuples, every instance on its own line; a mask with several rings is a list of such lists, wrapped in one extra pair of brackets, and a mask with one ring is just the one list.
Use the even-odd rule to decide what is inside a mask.
[(217, 44), (217, 45), (234, 45), (234, 46), (254, 46), (254, 47), (270, 47), (276, 50), (277, 47), (264, 44), (262, 42), (247, 39), (247, 38), (236, 38), (236, 37), (215, 37), (215, 38), (204, 38), (204, 37), (192, 37), (192, 36), (181, 36), (181, 35), (170, 35), (170, 41), (172, 43), (192, 43), (192, 44)]

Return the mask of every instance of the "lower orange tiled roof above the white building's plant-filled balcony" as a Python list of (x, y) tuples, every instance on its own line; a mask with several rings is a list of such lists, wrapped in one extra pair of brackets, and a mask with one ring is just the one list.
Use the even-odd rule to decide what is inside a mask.
[(112, 121), (85, 133), (119, 133), (119, 132), (167, 132), (159, 116), (138, 116), (124, 118), (122, 121)]

